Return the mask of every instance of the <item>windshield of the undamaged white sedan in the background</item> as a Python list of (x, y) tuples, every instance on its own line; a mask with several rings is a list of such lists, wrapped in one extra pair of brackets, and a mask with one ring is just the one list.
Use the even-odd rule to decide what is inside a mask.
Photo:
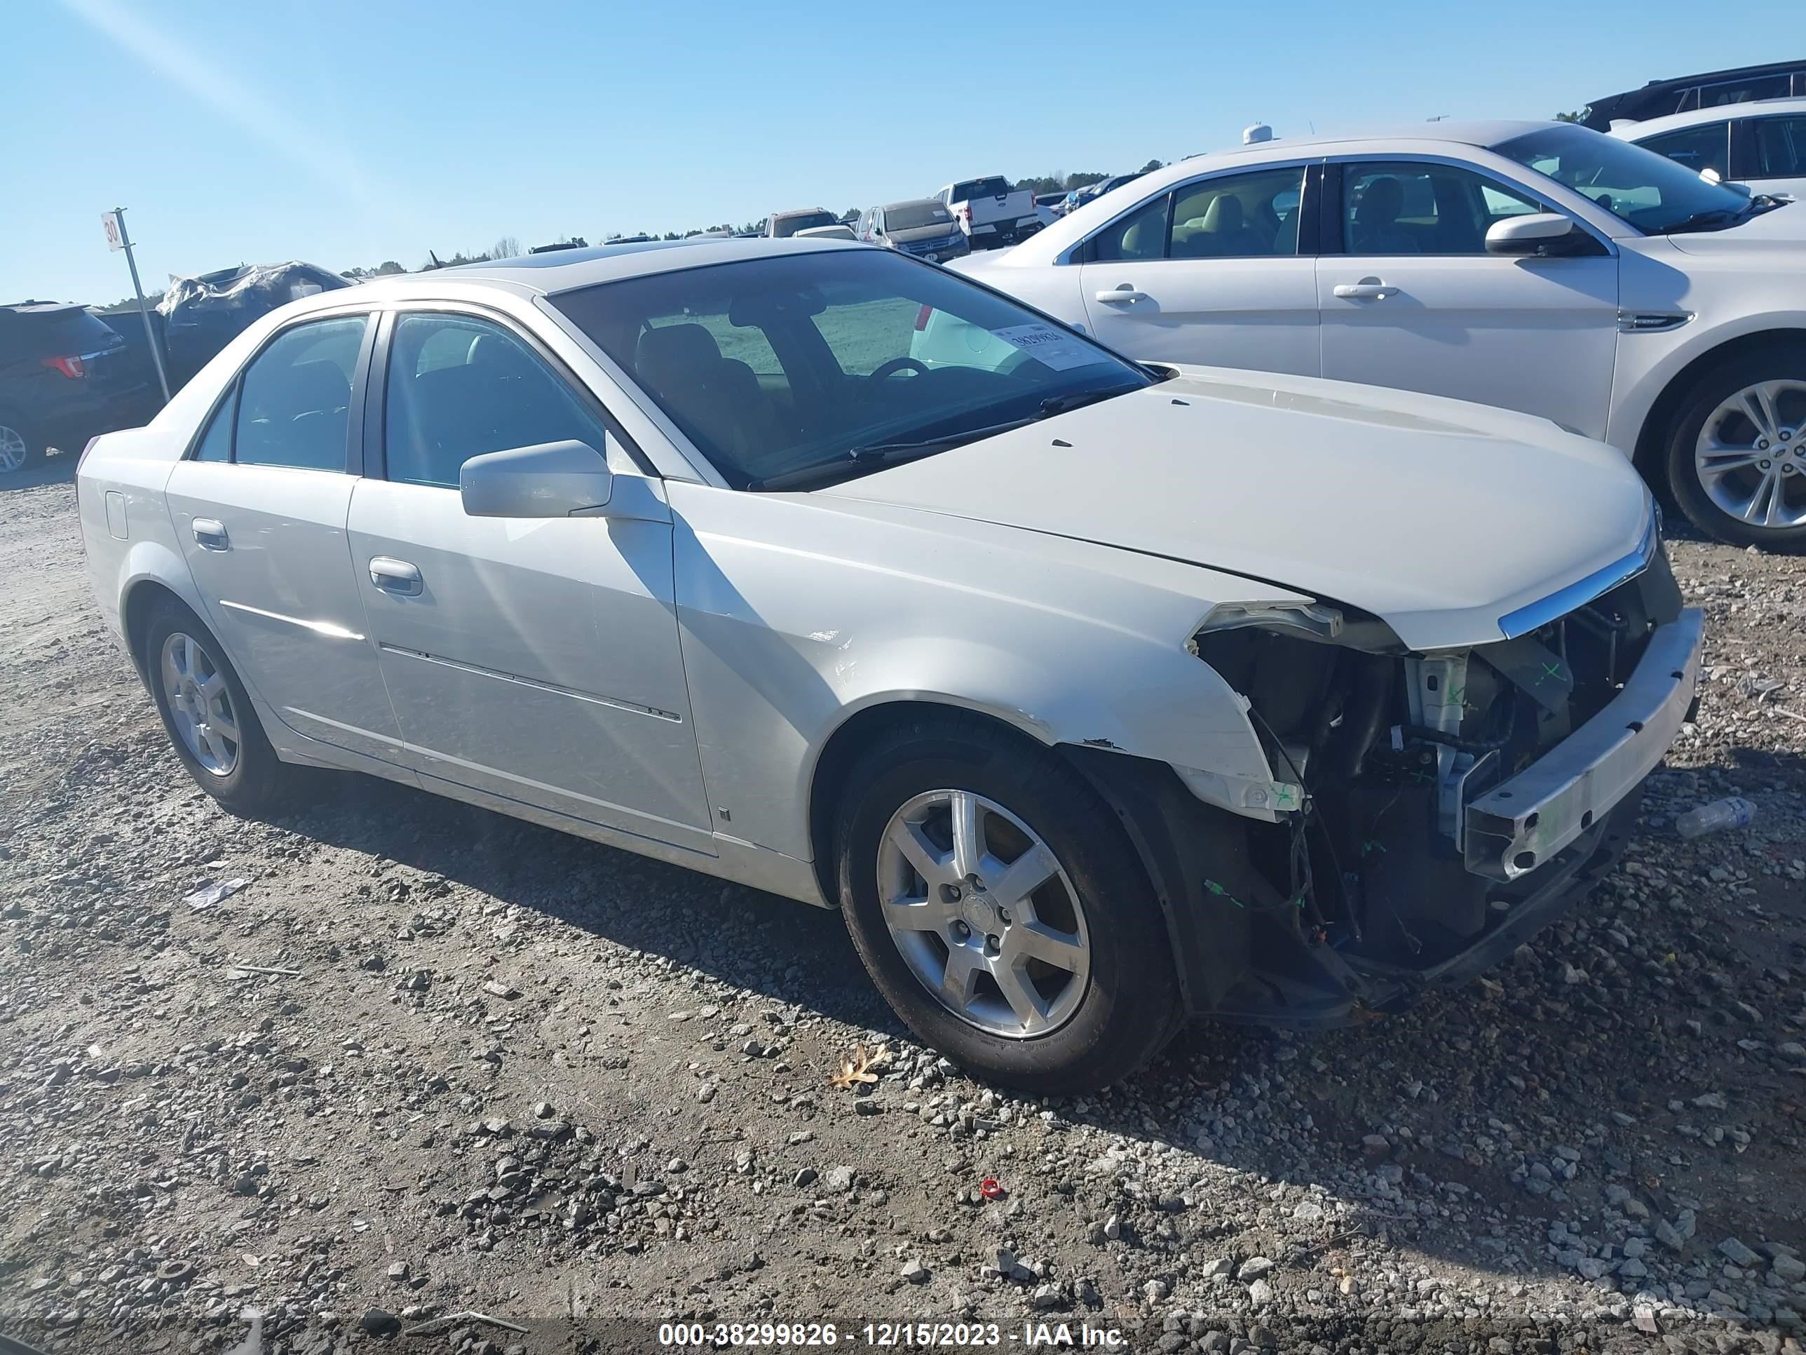
[(1750, 199), (1665, 155), (1586, 126), (1546, 126), (1494, 146), (1506, 159), (1586, 193), (1640, 231), (1665, 235), (1737, 220)]

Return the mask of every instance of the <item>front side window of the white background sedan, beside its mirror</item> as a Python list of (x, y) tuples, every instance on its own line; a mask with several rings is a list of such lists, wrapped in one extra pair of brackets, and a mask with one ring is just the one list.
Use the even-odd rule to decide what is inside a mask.
[(1528, 211), (1542, 206), (1454, 164), (1398, 161), (1342, 170), (1342, 244), (1351, 255), (1485, 255), (1486, 229)]

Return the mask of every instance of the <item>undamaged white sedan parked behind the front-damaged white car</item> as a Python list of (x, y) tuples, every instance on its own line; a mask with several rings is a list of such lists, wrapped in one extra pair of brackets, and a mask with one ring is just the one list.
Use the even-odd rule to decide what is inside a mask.
[(1584, 126), (1201, 155), (954, 267), (1140, 360), (1541, 414), (1710, 535), (1806, 547), (1806, 206)]

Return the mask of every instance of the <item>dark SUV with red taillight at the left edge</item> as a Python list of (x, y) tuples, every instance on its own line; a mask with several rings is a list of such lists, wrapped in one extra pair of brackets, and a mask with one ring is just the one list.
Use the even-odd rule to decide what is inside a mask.
[(0, 477), (155, 408), (155, 387), (99, 316), (63, 302), (0, 305)]

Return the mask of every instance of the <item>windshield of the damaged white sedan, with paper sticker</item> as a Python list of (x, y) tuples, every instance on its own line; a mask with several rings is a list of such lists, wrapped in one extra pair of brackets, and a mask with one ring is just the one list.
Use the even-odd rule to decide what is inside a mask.
[(926, 453), (1150, 383), (1015, 302), (878, 249), (654, 273), (553, 305), (735, 488), (813, 468), (843, 479), (876, 470), (878, 448)]

